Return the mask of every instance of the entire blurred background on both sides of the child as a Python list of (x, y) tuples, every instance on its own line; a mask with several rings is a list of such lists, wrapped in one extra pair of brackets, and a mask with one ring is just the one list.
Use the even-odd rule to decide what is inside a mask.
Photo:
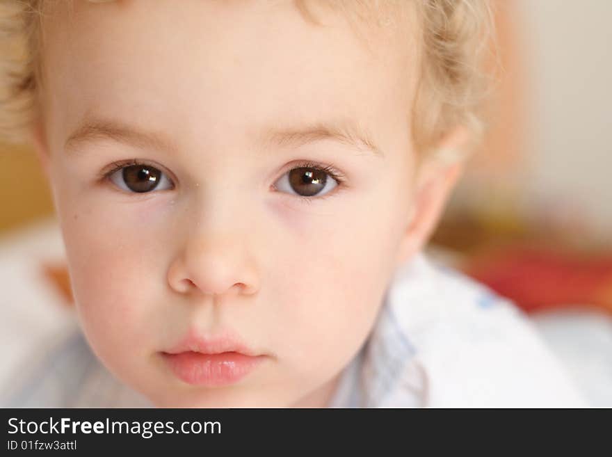
[[(528, 313), (594, 406), (612, 406), (611, 17), (607, 0), (497, 2), (490, 130), (428, 248)], [(0, 144), (0, 165), (6, 377), (38, 344), (19, 328), (51, 335), (72, 314), (34, 153)]]

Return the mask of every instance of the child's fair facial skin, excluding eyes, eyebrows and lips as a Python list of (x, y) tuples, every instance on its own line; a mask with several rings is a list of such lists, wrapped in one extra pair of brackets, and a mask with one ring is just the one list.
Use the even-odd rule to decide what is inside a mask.
[[(341, 15), (316, 26), (291, 2), (77, 1), (72, 19), (54, 13), (33, 141), (97, 356), (158, 406), (327, 405), (460, 173), (415, 173), (413, 51), (369, 32), (372, 54)], [(66, 145), (86, 118), (164, 144)], [(337, 122), (368, 131), (378, 153), (319, 134), (262, 141)], [(152, 191), (100, 177), (135, 158), (163, 176)], [(287, 177), (305, 162), (344, 181), (296, 195), (306, 187)], [(238, 383), (190, 385), (161, 361), (187, 332), (228, 329), (265, 356)]]

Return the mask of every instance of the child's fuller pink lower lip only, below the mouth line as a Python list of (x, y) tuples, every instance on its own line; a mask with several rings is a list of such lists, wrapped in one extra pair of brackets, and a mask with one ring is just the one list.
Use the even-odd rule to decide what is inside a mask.
[(163, 353), (163, 358), (180, 380), (192, 385), (215, 387), (237, 383), (255, 369), (264, 356), (252, 357), (237, 352), (182, 352)]

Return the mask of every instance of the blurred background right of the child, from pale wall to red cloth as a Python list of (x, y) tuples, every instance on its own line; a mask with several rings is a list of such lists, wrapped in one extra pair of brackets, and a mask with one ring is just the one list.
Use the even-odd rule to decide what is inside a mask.
[(612, 312), (612, 3), (497, 5), (488, 138), (433, 243), (527, 310)]

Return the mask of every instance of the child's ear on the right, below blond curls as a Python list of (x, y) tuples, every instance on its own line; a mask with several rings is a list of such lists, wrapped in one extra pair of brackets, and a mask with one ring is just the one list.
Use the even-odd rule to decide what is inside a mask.
[(396, 266), (407, 262), (421, 250), (435, 229), (444, 205), (463, 172), (469, 139), (467, 130), (457, 127), (419, 164), (410, 220), (398, 249)]

